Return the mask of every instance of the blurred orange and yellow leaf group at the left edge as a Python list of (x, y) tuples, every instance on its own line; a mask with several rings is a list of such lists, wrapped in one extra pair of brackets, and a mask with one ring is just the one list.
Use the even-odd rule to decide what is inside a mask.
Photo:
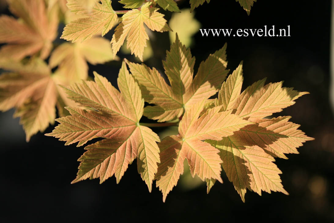
[[(0, 110), (16, 108), (14, 117), (26, 140), (67, 114), (64, 106), (76, 106), (58, 85), (88, 77), (87, 62), (95, 65), (113, 59), (109, 41), (94, 36), (84, 43), (54, 47), (62, 1), (10, 0), (9, 10), (18, 19), (0, 16)], [(44, 61), (49, 58), (48, 65)], [(54, 72), (51, 69), (57, 67)]]

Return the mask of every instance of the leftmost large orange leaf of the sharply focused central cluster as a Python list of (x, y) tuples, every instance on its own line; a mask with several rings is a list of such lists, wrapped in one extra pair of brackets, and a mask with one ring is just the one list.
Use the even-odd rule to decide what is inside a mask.
[(94, 110), (68, 107), (70, 116), (56, 119), (60, 124), (46, 135), (66, 141), (65, 145), (78, 142), (77, 146), (95, 138), (105, 138), (85, 147), (78, 182), (87, 178), (100, 178), (100, 183), (115, 175), (120, 181), (128, 164), (137, 158), (138, 173), (149, 191), (160, 162), (160, 139), (150, 128), (139, 123), (143, 115), (144, 100), (138, 84), (129, 74), (125, 62), (118, 77), (118, 91), (108, 80), (97, 73), (95, 82), (83, 81), (65, 88), (68, 97), (82, 106)]

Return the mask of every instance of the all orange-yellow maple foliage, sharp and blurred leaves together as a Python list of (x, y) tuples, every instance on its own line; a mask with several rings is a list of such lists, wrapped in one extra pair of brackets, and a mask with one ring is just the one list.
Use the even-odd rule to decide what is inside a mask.
[[(248, 14), (256, 2), (236, 1)], [(216, 181), (223, 183), (224, 171), (243, 202), (247, 189), (288, 194), (275, 158), (287, 159), (285, 154), (298, 153), (313, 138), (289, 122), (290, 116), (272, 115), (308, 92), (283, 87), (283, 82), (265, 85), (265, 79), (241, 91), (242, 62), (227, 76), (226, 44), (195, 73), (195, 58), (176, 35), (162, 62), (164, 75), (124, 59), (118, 89), (97, 73), (94, 81), (86, 80), (88, 63), (112, 60), (125, 39), (143, 61), (149, 38), (145, 26), (171, 31), (157, 7), (180, 12), (174, 0), (120, 0), (129, 9), (122, 11), (115, 11), (111, 0), (67, 0), (76, 18), (61, 35), (72, 43), (60, 45), (53, 43), (59, 18), (71, 20), (65, 0), (8, 2), (18, 19), (0, 16), (0, 42), (6, 43), (0, 48), (0, 68), (7, 71), (0, 76), (0, 110), (16, 108), (27, 141), (54, 123), (56, 107), (59, 124), (46, 135), (77, 146), (102, 138), (85, 147), (72, 183), (88, 178), (103, 183), (112, 176), (119, 183), (137, 159), (149, 191), (156, 181), (165, 201), (187, 160), (191, 175), (207, 183), (207, 193)], [(190, 11), (204, 2), (210, 0), (190, 0)], [(114, 26), (111, 44), (97, 36)], [(142, 123), (143, 116), (156, 123)], [(172, 125), (178, 133), (163, 139), (149, 128)]]

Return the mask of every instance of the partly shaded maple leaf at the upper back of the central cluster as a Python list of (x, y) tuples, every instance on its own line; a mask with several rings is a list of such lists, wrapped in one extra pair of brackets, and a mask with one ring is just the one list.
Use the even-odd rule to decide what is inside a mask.
[(193, 79), (195, 58), (191, 56), (190, 50), (181, 44), (178, 36), (170, 51), (167, 51), (166, 61), (163, 61), (171, 86), (155, 68), (150, 69), (144, 64), (131, 62), (127, 64), (139, 83), (144, 100), (155, 104), (146, 106), (144, 115), (158, 122), (179, 118), (193, 104), (214, 95), (228, 72), (225, 44), (199, 65)]

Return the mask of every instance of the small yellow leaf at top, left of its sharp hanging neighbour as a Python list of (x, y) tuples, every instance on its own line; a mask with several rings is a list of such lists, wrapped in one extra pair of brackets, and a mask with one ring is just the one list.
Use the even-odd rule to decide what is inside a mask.
[(72, 40), (72, 42), (85, 41), (101, 31), (104, 36), (117, 21), (117, 14), (111, 7), (111, 0), (96, 2), (92, 9), (85, 7), (79, 0), (68, 0), (66, 5), (71, 12), (85, 16), (65, 26), (60, 38)]

